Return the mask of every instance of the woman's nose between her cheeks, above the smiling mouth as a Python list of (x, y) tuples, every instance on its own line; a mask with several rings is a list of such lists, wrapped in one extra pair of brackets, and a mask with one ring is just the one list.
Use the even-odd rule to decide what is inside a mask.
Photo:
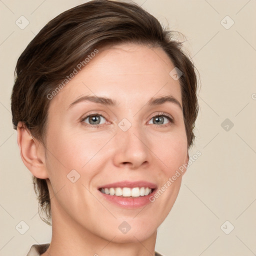
[(115, 166), (128, 165), (131, 169), (137, 169), (149, 163), (150, 149), (142, 128), (132, 125), (126, 131), (119, 129), (114, 139), (113, 161)]

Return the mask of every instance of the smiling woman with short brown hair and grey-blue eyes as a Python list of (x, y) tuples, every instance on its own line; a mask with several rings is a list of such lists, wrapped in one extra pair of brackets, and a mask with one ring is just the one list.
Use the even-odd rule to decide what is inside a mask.
[(27, 255), (160, 255), (187, 166), (195, 68), (137, 4), (93, 0), (49, 21), (16, 65), (11, 111), (49, 244)]

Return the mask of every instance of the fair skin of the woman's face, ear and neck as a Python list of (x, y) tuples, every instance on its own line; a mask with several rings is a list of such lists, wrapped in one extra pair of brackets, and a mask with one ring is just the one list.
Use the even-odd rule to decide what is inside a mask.
[[(173, 68), (161, 48), (133, 43), (100, 48), (51, 99), (46, 148), (19, 122), (21, 158), (34, 176), (46, 179), (50, 192), (52, 240), (43, 256), (154, 255), (157, 227), (177, 197), (182, 175), (154, 202), (134, 209), (106, 201), (97, 187), (146, 180), (159, 189), (187, 163), (181, 108), (172, 102), (145, 105), (149, 98), (165, 95), (182, 105), (179, 81), (169, 75)], [(112, 98), (117, 105), (82, 101), (69, 108), (84, 95)], [(95, 111), (103, 116), (100, 127), (95, 120), (80, 121)], [(159, 115), (163, 121), (156, 124), (153, 116)], [(123, 118), (131, 123), (125, 132), (118, 127)], [(72, 169), (80, 175), (74, 183), (66, 176)], [(125, 234), (118, 229), (124, 220), (131, 226)]]

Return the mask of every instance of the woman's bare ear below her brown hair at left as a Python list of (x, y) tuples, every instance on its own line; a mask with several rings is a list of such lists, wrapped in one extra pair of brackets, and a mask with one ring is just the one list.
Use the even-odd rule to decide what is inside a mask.
[(31, 136), (21, 121), (17, 125), (17, 143), (21, 159), (30, 172), (37, 178), (48, 178), (45, 168), (45, 148)]

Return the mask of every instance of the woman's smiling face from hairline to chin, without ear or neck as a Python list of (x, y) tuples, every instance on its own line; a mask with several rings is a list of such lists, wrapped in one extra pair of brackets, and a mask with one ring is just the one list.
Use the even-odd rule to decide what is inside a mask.
[[(50, 101), (45, 169), (52, 222), (137, 242), (167, 216), (181, 175), (166, 184), (188, 161), (180, 84), (160, 48), (125, 43), (98, 50)], [(167, 96), (177, 102), (152, 101)], [(153, 193), (138, 197), (147, 186)], [(135, 197), (104, 194), (102, 187)]]

